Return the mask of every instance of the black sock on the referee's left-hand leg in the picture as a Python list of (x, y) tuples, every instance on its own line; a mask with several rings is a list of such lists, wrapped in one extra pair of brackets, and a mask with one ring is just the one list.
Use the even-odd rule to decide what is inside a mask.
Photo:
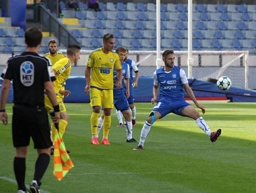
[(14, 157), (13, 161), (14, 174), (18, 183), (18, 189), (26, 191), (25, 173), (26, 173), (26, 158)]

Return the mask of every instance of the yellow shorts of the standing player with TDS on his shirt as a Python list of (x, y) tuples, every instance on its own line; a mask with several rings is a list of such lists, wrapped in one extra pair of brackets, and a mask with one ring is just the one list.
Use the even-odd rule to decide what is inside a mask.
[(113, 89), (98, 90), (97, 88), (90, 88), (89, 105), (101, 106), (103, 108), (113, 108)]

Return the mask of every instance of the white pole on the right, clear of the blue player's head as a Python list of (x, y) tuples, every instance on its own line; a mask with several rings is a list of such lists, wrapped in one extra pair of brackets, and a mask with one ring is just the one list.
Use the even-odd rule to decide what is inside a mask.
[(188, 78), (192, 77), (192, 0), (188, 0)]

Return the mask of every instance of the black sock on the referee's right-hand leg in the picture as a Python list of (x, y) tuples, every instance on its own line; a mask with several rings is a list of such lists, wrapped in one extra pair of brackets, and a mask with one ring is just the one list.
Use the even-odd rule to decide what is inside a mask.
[(47, 153), (40, 153), (36, 160), (34, 180), (36, 180), (39, 185), (40, 180), (42, 179), (44, 172), (46, 171), (50, 162), (50, 156)]

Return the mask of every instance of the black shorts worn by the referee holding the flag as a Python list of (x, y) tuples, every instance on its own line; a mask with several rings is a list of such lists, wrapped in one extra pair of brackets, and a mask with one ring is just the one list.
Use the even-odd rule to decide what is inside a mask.
[(35, 149), (52, 146), (51, 129), (47, 111), (43, 106), (14, 105), (12, 115), (12, 140), (14, 147), (28, 146), (30, 136)]

